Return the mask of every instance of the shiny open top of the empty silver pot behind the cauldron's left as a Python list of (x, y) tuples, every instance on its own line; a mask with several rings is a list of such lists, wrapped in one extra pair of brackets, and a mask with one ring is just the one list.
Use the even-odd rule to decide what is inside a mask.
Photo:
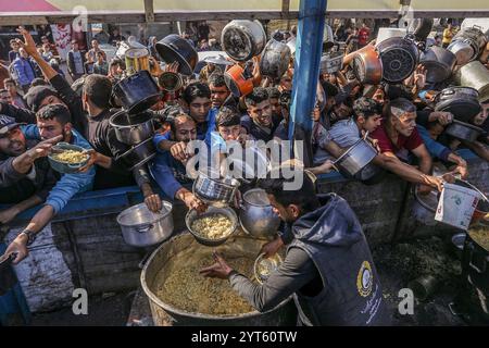
[(123, 210), (116, 217), (117, 223), (125, 227), (137, 227), (156, 223), (172, 213), (173, 204), (162, 200), (162, 210), (152, 212), (146, 203), (139, 203)]

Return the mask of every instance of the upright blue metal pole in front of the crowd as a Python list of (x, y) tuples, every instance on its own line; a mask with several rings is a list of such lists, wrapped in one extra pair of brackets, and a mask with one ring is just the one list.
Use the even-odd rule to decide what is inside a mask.
[[(291, 154), (294, 158), (303, 156), (305, 166), (311, 166), (313, 159), (311, 112), (314, 108), (319, 78), (326, 7), (327, 0), (301, 0), (299, 5), (289, 139), (292, 140)], [(293, 152), (296, 140), (304, 141), (303, 154)]]

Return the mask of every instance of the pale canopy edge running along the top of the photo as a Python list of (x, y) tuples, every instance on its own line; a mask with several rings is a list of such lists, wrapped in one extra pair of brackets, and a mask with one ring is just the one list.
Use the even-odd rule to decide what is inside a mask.
[[(91, 23), (116, 20), (120, 23), (228, 18), (297, 18), (300, 0), (0, 0), (3, 25), (49, 23), (73, 18), (79, 7)], [(399, 0), (329, 0), (327, 15), (334, 17), (394, 17)], [(489, 16), (488, 0), (412, 0), (414, 16)], [(75, 12), (74, 12), (74, 9)], [(27, 23), (22, 23), (22, 21)]]

